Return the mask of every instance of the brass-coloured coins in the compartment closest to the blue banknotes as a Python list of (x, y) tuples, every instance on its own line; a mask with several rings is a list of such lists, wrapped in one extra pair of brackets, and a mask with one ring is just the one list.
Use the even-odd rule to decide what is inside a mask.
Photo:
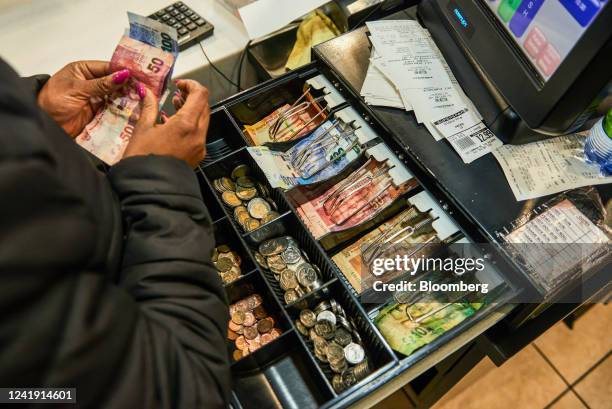
[(251, 232), (279, 215), (278, 206), (270, 197), (270, 189), (255, 180), (247, 165), (238, 165), (229, 176), (213, 181), (221, 200), (233, 209), (234, 220), (245, 232)]

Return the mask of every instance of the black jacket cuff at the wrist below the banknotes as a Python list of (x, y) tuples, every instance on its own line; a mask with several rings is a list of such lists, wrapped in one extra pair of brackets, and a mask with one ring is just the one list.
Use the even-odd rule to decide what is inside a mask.
[(120, 199), (132, 194), (172, 194), (202, 200), (193, 170), (170, 156), (132, 156), (122, 159), (109, 172), (109, 180)]

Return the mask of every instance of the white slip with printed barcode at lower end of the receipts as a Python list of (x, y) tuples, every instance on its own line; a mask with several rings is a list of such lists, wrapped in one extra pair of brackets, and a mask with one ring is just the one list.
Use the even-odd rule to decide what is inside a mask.
[(482, 122), (459, 131), (446, 140), (465, 163), (472, 163), (504, 144)]

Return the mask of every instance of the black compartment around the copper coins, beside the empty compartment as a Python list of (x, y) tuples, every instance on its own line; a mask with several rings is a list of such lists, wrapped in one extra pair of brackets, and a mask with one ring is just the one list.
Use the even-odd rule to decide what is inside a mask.
[[(259, 294), (262, 298), (262, 305), (266, 313), (268, 314), (269, 317), (274, 318), (274, 321), (275, 321), (274, 326), (281, 330), (282, 333), (279, 338), (273, 340), (272, 342), (266, 345), (262, 345), (255, 352), (259, 352), (260, 350), (267, 349), (268, 347), (273, 345), (276, 341), (281, 339), (284, 333), (292, 330), (293, 326), (289, 322), (286, 312), (280, 306), (276, 298), (270, 293), (268, 286), (266, 285), (264, 279), (262, 278), (260, 274), (255, 273), (255, 274), (249, 274), (246, 276), (242, 276), (241, 278), (234, 281), (233, 283), (228, 284), (225, 287), (225, 293), (227, 295), (229, 305), (237, 301), (240, 301), (248, 297), (249, 295)], [(230, 357), (231, 357), (231, 353), (236, 349), (236, 347), (235, 347), (234, 342), (227, 338), (226, 338), (226, 342), (227, 342), (227, 346), (228, 346)], [(251, 354), (247, 355), (246, 357), (241, 358), (238, 361), (234, 361), (232, 358), (231, 359), (232, 367), (236, 364), (236, 362), (254, 359), (254, 358), (249, 358), (249, 357), (251, 357)]]

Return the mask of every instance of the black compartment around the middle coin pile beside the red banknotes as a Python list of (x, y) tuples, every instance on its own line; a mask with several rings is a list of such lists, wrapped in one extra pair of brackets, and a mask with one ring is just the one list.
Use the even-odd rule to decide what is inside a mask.
[[(328, 262), (317, 242), (308, 233), (306, 227), (302, 224), (299, 217), (297, 217), (294, 213), (289, 212), (283, 215), (282, 218), (279, 218), (276, 223), (282, 225), (283, 230), (281, 234), (275, 235), (273, 238), (291, 236), (298, 242), (300, 249), (304, 250), (308, 255), (310, 263), (316, 265), (321, 270), (321, 288), (326, 288), (327, 284), (337, 279), (332, 265)], [(285, 226), (291, 226), (291, 228), (285, 228)], [(247, 240), (247, 243), (251, 252), (257, 251), (260, 244), (255, 243), (254, 240)], [(268, 281), (268, 284), (272, 288), (274, 295), (276, 295), (280, 303), (282, 305), (286, 305), (284, 298), (285, 291), (283, 291), (283, 289), (280, 287), (279, 282), (276, 281), (274, 273), (271, 270), (267, 270), (261, 266), (258, 266), (258, 268)], [(317, 290), (314, 290), (313, 292), (317, 292)], [(311, 293), (306, 293), (304, 296), (300, 297), (300, 299), (296, 300), (295, 303), (299, 303), (302, 298), (307, 297), (308, 294)]]

